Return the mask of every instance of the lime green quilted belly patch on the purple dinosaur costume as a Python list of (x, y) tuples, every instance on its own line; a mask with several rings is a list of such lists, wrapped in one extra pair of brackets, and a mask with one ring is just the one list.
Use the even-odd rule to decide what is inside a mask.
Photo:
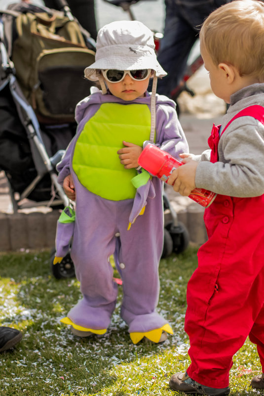
[(75, 144), (73, 169), (80, 183), (105, 199), (134, 198), (135, 169), (120, 164), (122, 141), (143, 146), (149, 140), (151, 112), (146, 104), (103, 103), (85, 124)]

